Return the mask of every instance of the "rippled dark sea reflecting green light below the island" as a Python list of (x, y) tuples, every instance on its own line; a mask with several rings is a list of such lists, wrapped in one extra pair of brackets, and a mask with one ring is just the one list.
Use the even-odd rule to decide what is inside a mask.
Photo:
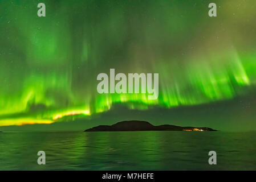
[[(46, 152), (46, 165), (37, 152)], [(217, 152), (217, 165), (208, 152)], [(255, 170), (256, 133), (0, 133), (0, 170)]]

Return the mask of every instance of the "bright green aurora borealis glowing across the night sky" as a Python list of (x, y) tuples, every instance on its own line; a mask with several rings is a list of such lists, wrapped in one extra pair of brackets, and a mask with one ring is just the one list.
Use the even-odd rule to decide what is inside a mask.
[[(46, 17), (38, 17), (40, 2), (0, 0), (0, 126), (72, 122), (119, 104), (154, 113), (256, 93), (254, 0), (216, 0), (217, 17), (208, 16), (212, 1), (202, 0), (47, 0)], [(159, 73), (158, 99), (97, 93), (97, 75), (111, 68)]]

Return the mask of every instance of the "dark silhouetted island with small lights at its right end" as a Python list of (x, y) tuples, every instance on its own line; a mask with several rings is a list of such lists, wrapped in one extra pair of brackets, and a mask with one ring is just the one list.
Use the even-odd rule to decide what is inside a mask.
[(159, 125), (154, 126), (147, 121), (121, 121), (114, 125), (100, 125), (85, 130), (90, 131), (217, 131), (209, 127)]

